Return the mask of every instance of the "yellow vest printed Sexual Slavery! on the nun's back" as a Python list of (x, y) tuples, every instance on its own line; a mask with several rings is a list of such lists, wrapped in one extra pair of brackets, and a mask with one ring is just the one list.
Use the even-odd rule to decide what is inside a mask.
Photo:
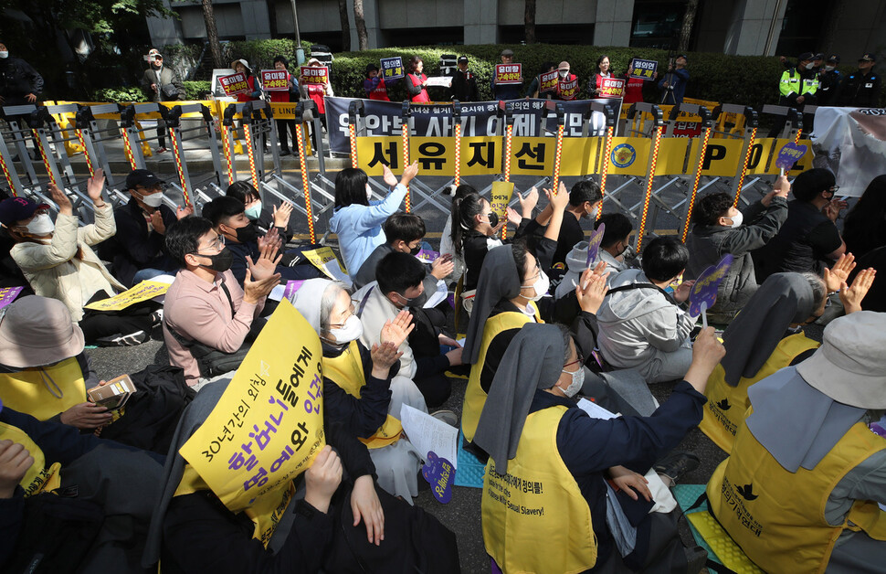
[(596, 564), (591, 508), (557, 451), (562, 405), (526, 417), (501, 475), (486, 463), (481, 502), (486, 551), (502, 572), (584, 572)]

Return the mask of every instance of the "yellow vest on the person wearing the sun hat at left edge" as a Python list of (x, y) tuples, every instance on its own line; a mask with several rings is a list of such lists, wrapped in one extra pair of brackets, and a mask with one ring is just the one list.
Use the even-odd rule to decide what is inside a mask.
[(86, 401), (86, 383), (77, 358), (49, 367), (0, 373), (0, 399), (10, 409), (47, 420)]

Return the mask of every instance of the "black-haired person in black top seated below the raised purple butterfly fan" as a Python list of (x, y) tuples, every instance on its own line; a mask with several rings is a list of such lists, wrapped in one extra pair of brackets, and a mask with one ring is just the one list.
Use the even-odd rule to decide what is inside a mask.
[(757, 282), (782, 271), (824, 274), (831, 261), (846, 252), (836, 221), (845, 201), (835, 197), (838, 186), (827, 169), (809, 169), (796, 176), (794, 200), (787, 202), (787, 219), (766, 245), (752, 252)]

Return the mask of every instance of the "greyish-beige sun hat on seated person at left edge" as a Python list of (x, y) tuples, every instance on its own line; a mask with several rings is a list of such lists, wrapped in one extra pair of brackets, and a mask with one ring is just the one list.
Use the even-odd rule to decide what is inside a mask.
[(0, 309), (0, 364), (41, 367), (83, 352), (83, 331), (65, 303), (29, 295)]

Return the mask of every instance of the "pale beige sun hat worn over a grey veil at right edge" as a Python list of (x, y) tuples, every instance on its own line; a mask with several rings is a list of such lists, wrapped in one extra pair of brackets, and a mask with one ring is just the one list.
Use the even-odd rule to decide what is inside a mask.
[(860, 409), (886, 409), (886, 314), (858, 311), (825, 328), (821, 346), (796, 366), (811, 387)]

